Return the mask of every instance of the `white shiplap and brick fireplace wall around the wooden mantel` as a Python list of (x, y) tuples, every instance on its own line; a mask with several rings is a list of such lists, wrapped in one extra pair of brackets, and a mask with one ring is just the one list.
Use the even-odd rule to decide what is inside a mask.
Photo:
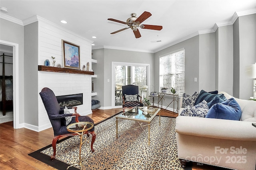
[[(52, 56), (55, 57), (55, 66), (62, 63), (62, 39), (80, 46), (80, 68), (89, 62), (91, 69), (92, 61), (92, 41), (81, 37), (75, 33), (68, 31), (62, 27), (46, 21), (38, 16), (38, 65), (44, 65), (44, 61), (48, 59), (50, 66), (52, 64)], [(69, 94), (83, 94), (83, 104), (77, 106), (77, 112), (80, 115), (88, 115), (91, 110), (91, 75), (74, 74), (64, 72), (48, 72), (38, 71), (38, 94), (42, 88), (50, 88), (56, 96)], [(72, 113), (73, 110), (70, 110)], [(42, 131), (51, 127), (48, 115), (38, 95), (38, 129)]]

